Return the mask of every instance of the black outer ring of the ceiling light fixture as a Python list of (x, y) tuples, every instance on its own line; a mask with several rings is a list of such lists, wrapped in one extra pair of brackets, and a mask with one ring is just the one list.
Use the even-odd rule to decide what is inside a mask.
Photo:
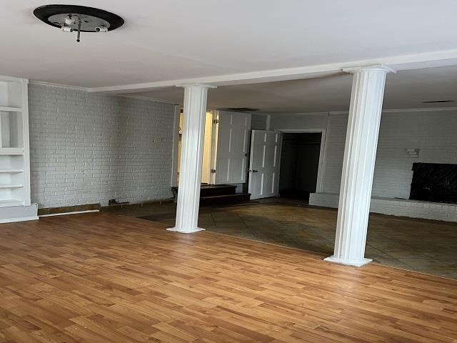
[[(45, 24), (61, 27), (59, 24), (52, 23), (49, 21), (50, 16), (56, 14), (83, 14), (87, 16), (95, 16), (97, 18), (103, 19), (109, 22), (108, 31), (113, 31), (124, 25), (124, 19), (122, 19), (117, 14), (111, 13), (109, 11), (104, 11), (103, 9), (95, 9), (94, 7), (87, 6), (78, 6), (78, 5), (44, 5), (34, 9), (34, 15), (36, 18), (43, 21)], [(85, 31), (81, 32), (94, 32), (94, 31)]]

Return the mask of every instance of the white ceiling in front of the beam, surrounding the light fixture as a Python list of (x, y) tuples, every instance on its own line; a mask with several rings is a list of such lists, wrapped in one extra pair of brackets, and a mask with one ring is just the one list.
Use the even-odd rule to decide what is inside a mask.
[[(0, 74), (99, 87), (457, 49), (455, 0), (59, 2), (106, 9), (126, 24), (106, 34), (83, 34), (77, 44), (75, 34), (33, 16), (44, 0), (2, 1)], [(299, 86), (291, 87), (293, 94), (279, 95), (301, 97), (302, 82), (307, 84), (296, 81)], [(346, 99), (348, 76), (338, 76), (310, 86), (316, 104), (306, 106), (327, 101), (322, 90), (334, 88), (333, 82), (346, 89), (335, 91), (335, 98)], [(254, 90), (247, 87), (246, 93), (233, 89), (238, 99), (251, 98), (247, 94)], [(342, 103), (329, 100), (330, 105)]]

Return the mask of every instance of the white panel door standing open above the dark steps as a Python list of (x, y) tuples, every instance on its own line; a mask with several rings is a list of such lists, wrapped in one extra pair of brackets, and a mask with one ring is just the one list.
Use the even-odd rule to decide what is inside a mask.
[(220, 111), (216, 184), (246, 182), (251, 114)]

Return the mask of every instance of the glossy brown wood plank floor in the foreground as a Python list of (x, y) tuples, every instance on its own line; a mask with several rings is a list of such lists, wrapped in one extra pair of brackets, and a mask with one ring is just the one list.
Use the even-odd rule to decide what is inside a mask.
[(115, 214), (0, 224), (0, 342), (457, 342), (457, 281)]

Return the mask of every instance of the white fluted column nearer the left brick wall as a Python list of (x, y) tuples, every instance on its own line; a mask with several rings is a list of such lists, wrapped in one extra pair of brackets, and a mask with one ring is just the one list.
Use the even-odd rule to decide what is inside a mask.
[(181, 170), (179, 172), (176, 224), (169, 231), (191, 234), (204, 229), (197, 227), (201, 186), (201, 160), (205, 135), (206, 95), (213, 86), (184, 85), (183, 135)]

